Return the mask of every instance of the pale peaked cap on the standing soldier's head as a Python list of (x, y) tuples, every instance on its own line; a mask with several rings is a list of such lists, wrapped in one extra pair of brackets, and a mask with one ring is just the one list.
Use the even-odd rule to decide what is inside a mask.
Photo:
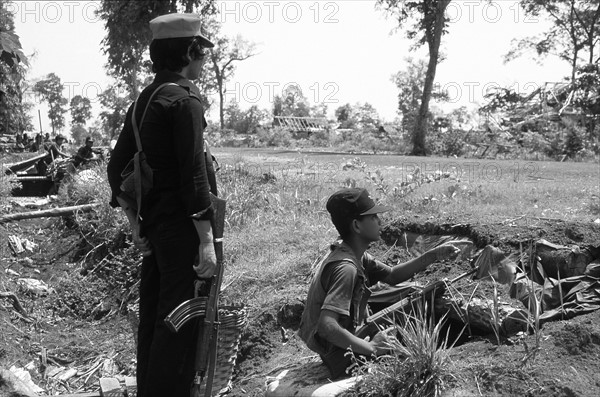
[(202, 34), (202, 20), (198, 14), (165, 14), (150, 21), (152, 40), (200, 37), (204, 47), (215, 45)]

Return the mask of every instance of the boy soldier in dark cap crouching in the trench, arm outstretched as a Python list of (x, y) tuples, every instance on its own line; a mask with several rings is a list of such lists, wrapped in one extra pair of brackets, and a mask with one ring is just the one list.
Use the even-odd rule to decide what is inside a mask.
[(456, 257), (460, 250), (440, 245), (418, 258), (390, 267), (365, 252), (379, 240), (381, 223), (377, 214), (391, 208), (376, 205), (365, 189), (343, 189), (327, 201), (327, 211), (341, 242), (331, 246), (312, 279), (298, 334), (318, 353), (331, 378), (344, 375), (351, 364), (345, 355), (351, 348), (367, 357), (389, 350), (388, 333), (377, 333), (367, 341), (354, 335), (367, 317), (370, 286), (382, 281), (395, 285), (424, 270), (437, 258)]

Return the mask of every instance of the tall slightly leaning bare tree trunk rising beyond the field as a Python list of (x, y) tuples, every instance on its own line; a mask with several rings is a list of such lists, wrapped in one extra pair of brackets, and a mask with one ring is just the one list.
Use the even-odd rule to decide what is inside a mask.
[(427, 114), (429, 113), (429, 100), (431, 99), (431, 91), (433, 89), (433, 82), (435, 80), (440, 43), (442, 41), (444, 11), (449, 3), (450, 0), (438, 1), (435, 13), (435, 21), (431, 27), (432, 34), (427, 36), (427, 44), (429, 46), (429, 64), (427, 65), (427, 74), (425, 75), (425, 84), (423, 86), (423, 94), (421, 96), (421, 106), (419, 107), (419, 114), (417, 116), (417, 122), (413, 132), (412, 155), (414, 156), (425, 156), (427, 154), (425, 137), (427, 136)]

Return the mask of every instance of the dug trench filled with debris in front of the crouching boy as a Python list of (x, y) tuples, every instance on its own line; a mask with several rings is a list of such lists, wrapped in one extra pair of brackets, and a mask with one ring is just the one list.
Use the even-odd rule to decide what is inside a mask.
[[(504, 343), (520, 332), (534, 332), (536, 321), (543, 326), (600, 308), (598, 228), (576, 226), (583, 243), (575, 244), (574, 226), (563, 224), (546, 233), (558, 242), (526, 233), (522, 239), (506, 238), (502, 230), (497, 233), (493, 227), (402, 222), (385, 227), (382, 240), (390, 257), (400, 261), (447, 242), (458, 244), (462, 251), (456, 260), (442, 259), (409, 284), (422, 288), (446, 280), (442, 291), (427, 299), (434, 319), (446, 316), (441, 335), (448, 335), (448, 345), (460, 346), (476, 337)], [(465, 243), (461, 247), (465, 241), (472, 246)], [(463, 277), (468, 272), (474, 274)], [(423, 301), (421, 298), (421, 305)], [(370, 306), (377, 312), (392, 302)]]

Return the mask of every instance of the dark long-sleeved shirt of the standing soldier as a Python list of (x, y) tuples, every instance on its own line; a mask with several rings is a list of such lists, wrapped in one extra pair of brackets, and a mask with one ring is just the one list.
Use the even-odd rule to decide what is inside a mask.
[[(156, 93), (140, 125), (150, 95), (167, 82), (177, 86), (168, 85)], [(142, 150), (154, 173), (153, 188), (142, 201), (144, 225), (170, 217), (199, 214), (199, 219), (206, 220), (212, 215), (204, 155), (206, 120), (199, 95), (192, 82), (169, 71), (157, 73), (154, 82), (140, 94), (136, 120)], [(137, 151), (132, 112), (133, 105), (127, 111), (125, 125), (107, 167), (113, 207), (119, 206), (116, 197), (120, 193), (121, 171)]]

